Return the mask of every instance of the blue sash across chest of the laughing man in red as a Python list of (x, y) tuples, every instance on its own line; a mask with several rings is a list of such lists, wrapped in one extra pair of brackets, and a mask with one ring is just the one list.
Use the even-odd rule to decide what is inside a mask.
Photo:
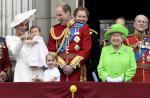
[[(69, 43), (72, 42), (73, 37), (75, 36), (75, 31), (78, 32), (79, 29), (84, 25), (84, 23), (76, 22), (73, 27), (70, 28), (70, 36), (69, 36)], [(64, 44), (60, 50), (60, 52), (64, 52), (66, 50), (67, 39), (65, 39)]]

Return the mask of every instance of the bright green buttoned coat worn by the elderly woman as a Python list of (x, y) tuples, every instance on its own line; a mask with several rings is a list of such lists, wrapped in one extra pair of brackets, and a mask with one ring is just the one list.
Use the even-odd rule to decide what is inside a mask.
[(136, 67), (133, 49), (122, 44), (118, 52), (112, 45), (103, 47), (97, 70), (103, 82), (108, 75), (112, 78), (123, 75), (127, 82), (135, 75)]

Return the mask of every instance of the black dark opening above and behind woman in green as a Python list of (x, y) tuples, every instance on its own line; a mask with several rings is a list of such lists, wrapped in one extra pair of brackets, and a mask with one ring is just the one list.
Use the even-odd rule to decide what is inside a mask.
[(124, 17), (133, 21), (138, 14), (144, 14), (150, 19), (148, 0), (85, 0), (85, 6), (90, 12), (88, 25), (98, 32), (100, 32), (100, 20)]

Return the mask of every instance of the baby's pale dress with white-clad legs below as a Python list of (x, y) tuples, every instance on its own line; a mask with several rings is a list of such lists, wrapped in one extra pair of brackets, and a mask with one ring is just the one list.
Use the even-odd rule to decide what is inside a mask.
[(33, 37), (34, 41), (37, 43), (30, 45), (30, 55), (28, 57), (29, 66), (35, 66), (36, 69), (33, 71), (33, 77), (38, 75), (38, 77), (43, 78), (42, 66), (46, 66), (46, 55), (48, 54), (48, 49), (41, 36)]

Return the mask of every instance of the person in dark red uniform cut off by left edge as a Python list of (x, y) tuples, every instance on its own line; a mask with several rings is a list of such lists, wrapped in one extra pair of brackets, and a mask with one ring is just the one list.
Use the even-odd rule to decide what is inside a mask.
[(5, 39), (0, 37), (0, 82), (8, 81), (8, 73), (11, 63), (8, 55), (8, 48)]

